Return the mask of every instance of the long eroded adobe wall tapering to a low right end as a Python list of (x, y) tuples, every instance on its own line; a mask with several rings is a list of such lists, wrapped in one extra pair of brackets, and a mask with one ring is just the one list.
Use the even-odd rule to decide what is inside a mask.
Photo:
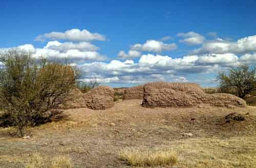
[(244, 100), (232, 94), (207, 94), (195, 83), (152, 82), (144, 85), (143, 107), (191, 107), (198, 104), (246, 106)]

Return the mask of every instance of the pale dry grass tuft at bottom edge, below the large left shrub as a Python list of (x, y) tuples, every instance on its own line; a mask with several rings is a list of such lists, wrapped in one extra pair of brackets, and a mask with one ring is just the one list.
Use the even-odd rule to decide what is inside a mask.
[(68, 156), (55, 156), (53, 158), (42, 156), (39, 153), (33, 154), (25, 164), (25, 168), (71, 168)]

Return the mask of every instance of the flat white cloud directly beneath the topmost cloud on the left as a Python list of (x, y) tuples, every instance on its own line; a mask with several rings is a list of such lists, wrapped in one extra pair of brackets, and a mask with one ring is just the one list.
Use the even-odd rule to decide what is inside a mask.
[(49, 41), (44, 47), (45, 49), (52, 49), (58, 51), (68, 51), (68, 50), (79, 50), (79, 51), (96, 51), (99, 48), (96, 45), (91, 44), (90, 42), (58, 42), (58, 41)]

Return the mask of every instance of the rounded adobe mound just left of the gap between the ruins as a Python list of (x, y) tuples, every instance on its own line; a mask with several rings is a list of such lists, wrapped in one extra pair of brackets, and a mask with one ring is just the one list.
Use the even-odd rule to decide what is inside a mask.
[(106, 109), (114, 105), (114, 89), (109, 86), (98, 86), (84, 93), (84, 101), (88, 108)]

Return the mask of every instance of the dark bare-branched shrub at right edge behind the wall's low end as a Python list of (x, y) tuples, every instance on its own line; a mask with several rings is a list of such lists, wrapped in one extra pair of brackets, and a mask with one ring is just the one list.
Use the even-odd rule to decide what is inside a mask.
[(228, 75), (221, 72), (217, 78), (221, 92), (231, 93), (243, 99), (256, 89), (256, 69), (245, 64), (231, 68)]

